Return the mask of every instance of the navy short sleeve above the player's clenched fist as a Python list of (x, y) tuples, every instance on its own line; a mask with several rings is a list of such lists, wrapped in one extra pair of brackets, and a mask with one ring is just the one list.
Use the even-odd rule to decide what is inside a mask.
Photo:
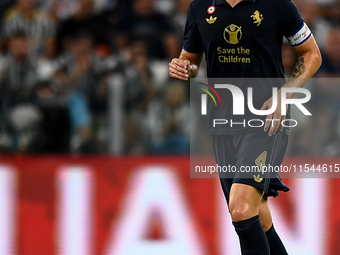
[(204, 51), (202, 38), (195, 25), (191, 6), (188, 10), (187, 22), (185, 25), (183, 49), (187, 52), (197, 53), (197, 54), (202, 53)]

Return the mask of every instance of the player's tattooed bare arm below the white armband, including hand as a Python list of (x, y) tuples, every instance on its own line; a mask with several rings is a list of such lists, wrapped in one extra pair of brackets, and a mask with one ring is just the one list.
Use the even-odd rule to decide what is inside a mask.
[[(299, 60), (295, 65), (291, 77), (288, 79), (283, 87), (302, 87), (309, 78), (311, 78), (316, 71), (320, 68), (322, 58), (318, 45), (316, 44), (313, 35), (299, 46), (295, 46), (295, 51), (299, 55)], [(295, 93), (287, 93), (286, 98), (292, 98)], [(269, 109), (272, 106), (272, 98), (266, 101), (262, 110)], [(278, 105), (274, 113), (267, 116), (267, 120), (275, 120), (272, 124), (271, 121), (266, 121), (264, 131), (268, 131), (268, 135), (274, 135), (278, 129), (283, 130), (281, 122), (285, 119), (285, 115), (281, 115), (281, 89), (278, 91)], [(280, 127), (281, 126), (281, 127)]]

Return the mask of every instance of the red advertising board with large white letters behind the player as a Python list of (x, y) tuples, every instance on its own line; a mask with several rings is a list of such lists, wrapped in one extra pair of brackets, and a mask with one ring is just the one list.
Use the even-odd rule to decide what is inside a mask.
[[(191, 179), (189, 167), (187, 157), (1, 157), (0, 254), (237, 254), (218, 180)], [(290, 253), (340, 254), (340, 179), (285, 182), (291, 191), (270, 202)]]

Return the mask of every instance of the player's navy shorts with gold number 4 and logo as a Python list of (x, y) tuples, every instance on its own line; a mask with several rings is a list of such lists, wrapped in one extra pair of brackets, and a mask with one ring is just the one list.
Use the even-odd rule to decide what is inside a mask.
[(282, 132), (277, 132), (274, 136), (268, 136), (268, 133), (263, 130), (237, 135), (214, 135), (216, 163), (221, 167), (234, 166), (236, 169), (234, 173), (228, 172), (228, 175), (220, 173), (227, 202), (233, 183), (247, 184), (261, 189), (265, 192), (265, 198), (278, 196), (279, 190), (289, 191), (281, 180), (279, 172), (245, 172), (251, 167), (261, 170), (262, 164), (267, 167), (281, 166), (287, 146), (288, 135)]

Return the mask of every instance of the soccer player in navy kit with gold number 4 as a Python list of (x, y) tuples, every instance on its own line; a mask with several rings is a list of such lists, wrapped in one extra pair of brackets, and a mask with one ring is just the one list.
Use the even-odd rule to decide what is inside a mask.
[[(283, 37), (294, 47), (299, 60), (291, 77), (281, 86), (302, 87), (320, 67), (321, 55), (291, 0), (195, 0), (187, 14), (182, 52), (179, 58), (172, 59), (169, 73), (184, 81), (195, 77), (205, 53), (209, 78), (283, 79)], [(256, 89), (261, 90), (258, 94), (262, 96), (254, 100), (257, 104), (261, 101), (262, 110), (270, 109), (272, 87), (255, 87), (254, 93)], [(266, 121), (264, 130), (228, 126), (214, 132), (209, 128), (218, 165), (239, 168), (253, 165), (257, 160), (266, 165), (281, 165), (288, 143), (288, 130), (281, 126), (286, 118), (281, 115), (281, 91), (280, 88), (276, 110), (266, 116), (272, 122)], [(293, 95), (288, 93), (287, 98)], [(213, 111), (208, 113), (213, 114)], [(288, 119), (289, 109), (286, 115)], [(233, 178), (220, 178), (242, 254), (287, 254), (273, 227), (267, 197), (275, 197), (278, 190), (289, 188), (279, 175), (242, 177), (236, 173)]]

